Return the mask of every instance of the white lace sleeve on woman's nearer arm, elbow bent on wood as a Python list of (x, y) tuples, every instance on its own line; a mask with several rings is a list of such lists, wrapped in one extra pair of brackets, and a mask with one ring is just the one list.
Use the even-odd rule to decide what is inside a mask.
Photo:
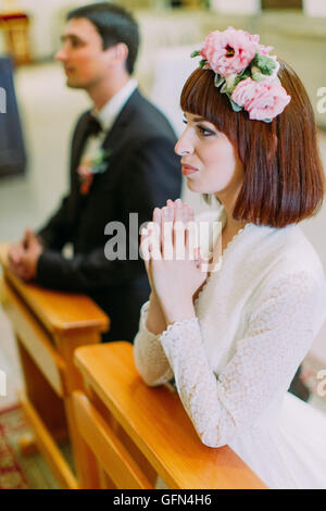
[[(269, 286), (218, 377), (210, 366), (197, 319), (170, 325), (161, 335), (179, 397), (203, 444), (228, 444), (253, 425), (275, 392), (288, 389), (315, 334), (319, 290), (302, 273)], [(218, 324), (215, 328), (218, 338)]]

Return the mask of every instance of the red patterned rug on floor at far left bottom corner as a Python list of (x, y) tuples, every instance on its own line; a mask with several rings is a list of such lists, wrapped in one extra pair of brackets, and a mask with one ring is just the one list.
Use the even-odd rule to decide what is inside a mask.
[(12, 444), (26, 432), (28, 427), (18, 406), (0, 412), (0, 489), (30, 488)]

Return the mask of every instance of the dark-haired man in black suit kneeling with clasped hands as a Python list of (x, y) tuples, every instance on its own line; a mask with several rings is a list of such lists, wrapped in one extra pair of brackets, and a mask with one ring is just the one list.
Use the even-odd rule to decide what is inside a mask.
[[(68, 195), (37, 234), (26, 230), (10, 250), (11, 267), (24, 281), (91, 297), (111, 319), (104, 341), (133, 341), (150, 291), (140, 258), (105, 257), (105, 225), (122, 223), (128, 240), (129, 213), (138, 213), (140, 226), (155, 207), (180, 196), (175, 134), (131, 78), (138, 46), (138, 25), (121, 7), (96, 3), (67, 15), (55, 57), (67, 86), (86, 90), (92, 109), (74, 132)], [(62, 253), (67, 242), (70, 259)]]

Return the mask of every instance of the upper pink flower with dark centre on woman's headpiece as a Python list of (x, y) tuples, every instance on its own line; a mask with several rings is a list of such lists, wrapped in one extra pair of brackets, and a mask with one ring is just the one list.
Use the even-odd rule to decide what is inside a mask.
[(209, 61), (209, 68), (226, 77), (241, 73), (250, 64), (259, 47), (262, 47), (259, 40), (258, 35), (253, 36), (229, 26), (224, 32), (215, 30), (209, 34), (200, 54)]

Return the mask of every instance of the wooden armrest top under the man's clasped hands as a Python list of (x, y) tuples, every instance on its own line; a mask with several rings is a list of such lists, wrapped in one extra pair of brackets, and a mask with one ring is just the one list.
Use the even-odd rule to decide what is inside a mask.
[(0, 262), (5, 281), (20, 295), (51, 334), (63, 331), (89, 328), (97, 332), (109, 329), (109, 317), (87, 296), (52, 291), (36, 284), (25, 284), (9, 269), (9, 244), (0, 244)]

